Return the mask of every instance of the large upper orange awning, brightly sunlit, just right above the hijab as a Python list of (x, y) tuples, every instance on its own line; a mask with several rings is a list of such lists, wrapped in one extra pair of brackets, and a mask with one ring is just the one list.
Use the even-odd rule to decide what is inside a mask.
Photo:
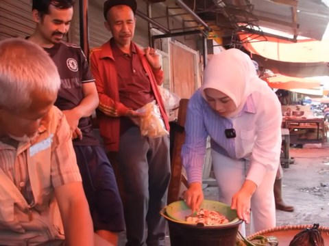
[[(241, 34), (241, 40), (246, 42), (245, 48), (256, 55), (268, 59), (287, 62), (329, 62), (329, 39), (321, 41), (307, 39), (289, 42), (278, 38), (255, 36), (254, 34)], [(247, 42), (247, 41), (250, 42)]]

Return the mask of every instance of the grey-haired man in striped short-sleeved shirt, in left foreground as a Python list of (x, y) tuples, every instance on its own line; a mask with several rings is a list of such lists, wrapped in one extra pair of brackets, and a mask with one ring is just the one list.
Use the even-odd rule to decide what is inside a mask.
[(0, 60), (0, 245), (109, 245), (94, 236), (71, 131), (53, 106), (56, 65), (22, 39), (0, 42)]

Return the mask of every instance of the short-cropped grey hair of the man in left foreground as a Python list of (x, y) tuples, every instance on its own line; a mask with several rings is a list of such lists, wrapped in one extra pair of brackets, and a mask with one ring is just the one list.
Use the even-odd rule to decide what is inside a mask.
[(0, 61), (0, 107), (16, 111), (31, 104), (32, 92), (57, 93), (60, 88), (56, 65), (32, 42), (21, 38), (0, 42)]

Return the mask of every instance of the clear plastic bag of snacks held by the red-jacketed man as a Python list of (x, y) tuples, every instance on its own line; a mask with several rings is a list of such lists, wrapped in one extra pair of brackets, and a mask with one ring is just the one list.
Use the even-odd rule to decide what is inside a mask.
[(136, 112), (144, 113), (144, 115), (141, 116), (140, 122), (142, 136), (162, 137), (169, 135), (161, 119), (160, 109), (159, 106), (156, 105), (156, 101), (147, 103), (147, 105), (136, 110)]

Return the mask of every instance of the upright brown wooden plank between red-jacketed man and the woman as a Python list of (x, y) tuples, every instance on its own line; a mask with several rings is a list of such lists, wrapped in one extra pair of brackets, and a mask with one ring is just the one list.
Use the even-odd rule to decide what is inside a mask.
[[(178, 111), (178, 122), (180, 126), (185, 126), (188, 99), (180, 100), (180, 109)], [(173, 143), (173, 154), (171, 159), (171, 182), (168, 191), (168, 203), (171, 204), (178, 200), (180, 196), (181, 183), (187, 185), (186, 177), (182, 178), (182, 145), (185, 141), (185, 133), (175, 132), (175, 141)]]

